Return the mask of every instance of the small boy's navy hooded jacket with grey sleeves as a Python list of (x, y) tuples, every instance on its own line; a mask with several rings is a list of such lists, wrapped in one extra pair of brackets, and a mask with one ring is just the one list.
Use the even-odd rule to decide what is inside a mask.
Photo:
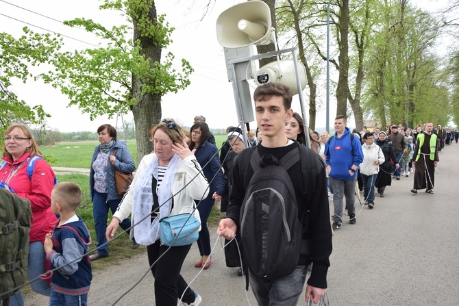
[[(59, 270), (54, 271), (51, 277), (53, 289), (56, 292), (73, 296), (88, 293), (92, 280), (89, 256), (82, 257), (88, 253), (91, 236), (83, 219), (81, 217), (78, 219), (78, 221), (61, 226), (58, 226), (58, 220), (53, 231), (53, 249), (46, 255), (51, 262), (52, 269), (62, 266)], [(75, 259), (77, 260), (73, 262)], [(72, 263), (69, 264), (70, 262)]]

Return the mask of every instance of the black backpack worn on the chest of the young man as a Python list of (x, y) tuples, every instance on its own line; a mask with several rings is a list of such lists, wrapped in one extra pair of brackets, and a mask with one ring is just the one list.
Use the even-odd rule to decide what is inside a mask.
[(304, 146), (289, 151), (281, 160), (271, 154), (260, 157), (258, 149), (253, 150), (250, 166), (254, 173), (240, 210), (240, 241), (245, 263), (253, 275), (275, 280), (297, 267), (303, 233), (300, 220), (304, 216), (298, 216), (287, 170), (301, 160), (303, 186), (307, 186), (302, 191), (314, 192), (315, 157)]

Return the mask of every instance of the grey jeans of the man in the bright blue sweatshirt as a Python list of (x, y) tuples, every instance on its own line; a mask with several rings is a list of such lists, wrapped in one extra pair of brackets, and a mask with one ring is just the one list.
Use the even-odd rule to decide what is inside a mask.
[(343, 198), (346, 197), (346, 208), (349, 216), (356, 214), (356, 178), (343, 181), (343, 179), (334, 179), (333, 184), (333, 207), (334, 207), (334, 222), (341, 225), (343, 223)]

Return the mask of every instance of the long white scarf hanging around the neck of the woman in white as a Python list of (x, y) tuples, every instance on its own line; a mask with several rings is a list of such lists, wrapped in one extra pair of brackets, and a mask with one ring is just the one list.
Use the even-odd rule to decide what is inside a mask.
[(158, 190), (158, 203), (160, 204), (160, 214), (153, 222), (149, 217), (153, 207), (153, 190), (151, 183), (154, 176), (158, 180), (158, 156), (153, 155), (151, 164), (145, 166), (142, 173), (138, 176), (136, 186), (134, 187), (134, 205), (132, 206), (132, 217), (134, 222), (139, 222), (134, 227), (134, 237), (136, 242), (142, 245), (150, 245), (160, 239), (160, 219), (169, 216), (172, 209), (172, 184), (177, 173), (179, 163), (182, 162), (179, 155), (174, 154), (166, 173), (161, 181)]

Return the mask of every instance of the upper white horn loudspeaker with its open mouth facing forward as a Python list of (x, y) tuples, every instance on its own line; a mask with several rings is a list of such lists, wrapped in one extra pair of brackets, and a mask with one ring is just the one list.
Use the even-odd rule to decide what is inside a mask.
[(216, 38), (225, 48), (271, 42), (271, 11), (263, 1), (236, 4), (216, 19)]

